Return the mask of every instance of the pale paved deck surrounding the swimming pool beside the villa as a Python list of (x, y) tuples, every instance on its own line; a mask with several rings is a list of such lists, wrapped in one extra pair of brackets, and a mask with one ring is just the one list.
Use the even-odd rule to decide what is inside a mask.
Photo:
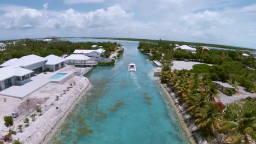
[[(62, 81), (65, 81), (69, 77), (78, 75), (76, 74), (77, 71), (80, 71), (80, 73), (83, 72), (82, 74), (84, 75), (88, 73), (88, 71), (90, 70), (91, 70), (90, 67), (74, 68), (72, 66), (67, 66), (55, 72), (48, 72), (47, 74), (41, 73), (41, 74), (38, 74), (37, 76), (31, 77), (31, 81), (25, 83), (22, 86), (11, 86), (7, 89), (4, 89), (3, 91), (0, 92), (0, 95), (19, 98), (19, 99), (25, 99), (28, 95), (36, 92), (37, 90), (44, 87), (45, 85), (48, 85), (48, 83), (61, 83)], [(67, 74), (63, 75), (59, 79), (50, 79), (51, 76), (57, 73), (67, 73)]]

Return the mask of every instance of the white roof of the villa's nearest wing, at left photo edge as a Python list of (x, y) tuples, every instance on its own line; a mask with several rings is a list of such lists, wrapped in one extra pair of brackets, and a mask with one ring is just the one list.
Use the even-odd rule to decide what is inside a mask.
[(8, 66), (0, 68), (0, 81), (6, 80), (13, 76), (24, 76), (30, 73), (33, 73), (33, 71), (21, 68), (19, 66)]

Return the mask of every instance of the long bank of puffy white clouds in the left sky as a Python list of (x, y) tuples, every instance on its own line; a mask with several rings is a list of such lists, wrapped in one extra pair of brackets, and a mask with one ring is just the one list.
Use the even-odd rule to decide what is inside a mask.
[(21, 11), (9, 11), (0, 16), (0, 26), (4, 29), (63, 29), (69, 31), (85, 31), (95, 28), (120, 27), (120, 23), (129, 21), (132, 13), (126, 13), (119, 5), (104, 9), (79, 13), (74, 9), (68, 9), (64, 13), (51, 13), (46, 9), (23, 9)]

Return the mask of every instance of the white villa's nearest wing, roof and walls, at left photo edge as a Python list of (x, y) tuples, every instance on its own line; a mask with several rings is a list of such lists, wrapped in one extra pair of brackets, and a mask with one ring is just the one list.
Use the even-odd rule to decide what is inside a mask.
[(32, 70), (17, 65), (0, 68), (0, 91), (13, 85), (24, 85), (30, 81)]

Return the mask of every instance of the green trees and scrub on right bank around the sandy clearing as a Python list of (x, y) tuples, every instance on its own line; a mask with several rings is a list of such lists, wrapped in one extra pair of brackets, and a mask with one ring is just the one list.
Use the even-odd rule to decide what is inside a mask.
[[(211, 81), (229, 82), (234, 87), (237, 85), (245, 87), (246, 91), (254, 92), (256, 89), (255, 70), (248, 67), (256, 67), (256, 59), (253, 57), (242, 56), (241, 51), (230, 50), (202, 50), (202, 47), (196, 47), (196, 53), (185, 50), (173, 50), (176, 47), (164, 40), (149, 42), (140, 42), (138, 49), (142, 53), (150, 53), (150, 61), (159, 60), (162, 64), (171, 66), (172, 59), (181, 61), (196, 61), (214, 64), (193, 65), (191, 72), (202, 75), (205, 79)], [(232, 95), (235, 92), (229, 89), (226, 94)]]

